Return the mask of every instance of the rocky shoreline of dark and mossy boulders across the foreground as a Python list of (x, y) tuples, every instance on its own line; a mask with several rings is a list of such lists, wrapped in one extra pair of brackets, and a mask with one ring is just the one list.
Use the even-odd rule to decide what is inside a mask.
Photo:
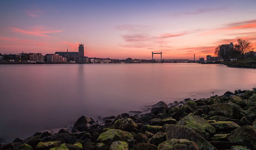
[(37, 132), (1, 150), (255, 150), (256, 88), (158, 102), (143, 112), (81, 116), (58, 133)]

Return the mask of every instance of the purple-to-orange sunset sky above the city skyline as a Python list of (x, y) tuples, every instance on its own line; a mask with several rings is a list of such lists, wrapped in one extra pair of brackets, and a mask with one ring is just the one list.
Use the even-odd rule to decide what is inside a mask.
[[(237, 38), (256, 47), (255, 0), (1, 0), (0, 53), (196, 59)], [(159, 59), (160, 55), (154, 58)]]

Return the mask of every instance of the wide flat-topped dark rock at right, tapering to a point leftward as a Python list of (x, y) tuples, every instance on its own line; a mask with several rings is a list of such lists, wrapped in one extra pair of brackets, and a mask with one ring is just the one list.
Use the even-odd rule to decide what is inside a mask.
[(241, 113), (241, 108), (234, 103), (220, 103), (213, 104), (201, 107), (203, 111), (205, 110), (214, 110), (221, 114), (221, 116), (232, 118), (232, 119), (240, 119), (243, 117)]

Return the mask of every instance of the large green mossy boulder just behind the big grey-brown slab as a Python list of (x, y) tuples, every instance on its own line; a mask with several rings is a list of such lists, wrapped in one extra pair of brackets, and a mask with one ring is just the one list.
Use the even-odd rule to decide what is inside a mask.
[(213, 135), (215, 133), (215, 128), (200, 116), (188, 115), (177, 122), (177, 125), (189, 127), (199, 134)]

